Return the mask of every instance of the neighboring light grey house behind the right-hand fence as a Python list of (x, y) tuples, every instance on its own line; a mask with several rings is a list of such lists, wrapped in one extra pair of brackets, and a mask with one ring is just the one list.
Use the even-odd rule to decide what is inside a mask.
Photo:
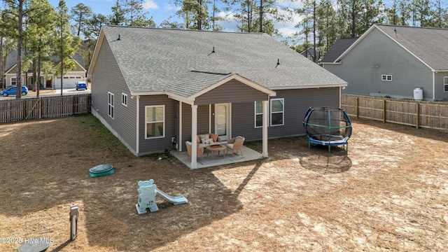
[(343, 93), (421, 99), (420, 87), (424, 100), (448, 99), (448, 29), (373, 25), (355, 39), (321, 60), (349, 83)]

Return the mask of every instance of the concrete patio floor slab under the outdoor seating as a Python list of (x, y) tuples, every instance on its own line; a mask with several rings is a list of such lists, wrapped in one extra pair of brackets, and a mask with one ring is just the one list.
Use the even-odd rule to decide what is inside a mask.
[[(226, 151), (224, 151), (226, 152)], [(190, 169), (200, 169), (207, 167), (215, 167), (219, 165), (230, 165), (237, 162), (246, 162), (251, 160), (258, 160), (263, 158), (261, 153), (258, 151), (253, 151), (251, 148), (243, 146), (241, 152), (243, 155), (239, 155), (239, 153), (235, 153), (232, 155), (232, 151), (229, 151), (227, 154), (223, 155), (223, 153), (210, 153), (207, 150), (204, 151), (204, 155), (202, 157), (197, 157), (197, 167), (192, 168), (191, 161), (188, 158), (188, 153), (186, 151), (172, 151), (172, 155), (176, 157), (178, 160), (183, 162)]]

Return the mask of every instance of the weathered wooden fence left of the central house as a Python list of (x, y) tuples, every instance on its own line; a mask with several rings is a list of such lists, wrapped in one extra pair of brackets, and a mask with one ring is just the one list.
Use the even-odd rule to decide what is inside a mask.
[(91, 94), (0, 101), (0, 123), (90, 113)]

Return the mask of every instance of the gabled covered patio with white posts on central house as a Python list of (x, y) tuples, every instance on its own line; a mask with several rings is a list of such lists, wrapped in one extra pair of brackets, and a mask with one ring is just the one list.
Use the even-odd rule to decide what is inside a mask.
[[(202, 167), (212, 167), (217, 165), (229, 164), (233, 162), (243, 162), (246, 160), (255, 160), (258, 158), (267, 158), (267, 125), (268, 125), (268, 104), (269, 97), (275, 96), (276, 92), (270, 90), (267, 87), (263, 87), (258, 83), (254, 83), (252, 80), (248, 80), (237, 73), (211, 73), (192, 71), (189, 73), (190, 78), (188, 80), (197, 80), (196, 85), (192, 85), (193, 82), (183, 85), (185, 90), (179, 93), (179, 90), (170, 90), (169, 98), (179, 102), (176, 109), (176, 137), (180, 139), (176, 144), (176, 149), (180, 151), (175, 155), (179, 157), (179, 160), (186, 163), (190, 169), (198, 169)], [(195, 78), (193, 78), (195, 77)], [(207, 77), (207, 78), (206, 78)], [(207, 81), (205, 81), (207, 80)], [(187, 85), (189, 84), (189, 85)], [(179, 95), (181, 94), (181, 95)], [(231, 120), (231, 106), (241, 102), (255, 102), (262, 103), (262, 153), (258, 153), (249, 148), (244, 147), (244, 155), (233, 155), (229, 152), (229, 155), (223, 157), (207, 157), (208, 151), (204, 152), (202, 157), (197, 157), (197, 146), (200, 144), (197, 141), (198, 133), (204, 130), (204, 125), (208, 127), (208, 132), (218, 134), (221, 139), (226, 141), (232, 137), (238, 135), (238, 132), (232, 132), (232, 124), (239, 123)], [(225, 115), (218, 116), (218, 111), (211, 110), (211, 106), (216, 104), (228, 104), (225, 109)], [(200, 111), (199, 106), (207, 106), (209, 111)], [(198, 112), (199, 111), (199, 112)], [(184, 114), (185, 112), (185, 114)], [(250, 112), (253, 115), (253, 112)], [(216, 118), (224, 118), (222, 123), (219, 123)], [(200, 120), (199, 120), (200, 119)], [(253, 119), (244, 121), (244, 125), (248, 127), (254, 127)], [(220, 134), (219, 125), (225, 126), (223, 134)], [(201, 132), (198, 132), (198, 128), (201, 127)], [(207, 130), (205, 131), (207, 132)], [(242, 136), (244, 137), (244, 136)], [(191, 159), (188, 160), (188, 154), (182, 152), (186, 149), (185, 142), (191, 143)], [(221, 142), (220, 144), (225, 144)], [(221, 158), (221, 160), (220, 160)], [(183, 161), (185, 160), (185, 161)]]

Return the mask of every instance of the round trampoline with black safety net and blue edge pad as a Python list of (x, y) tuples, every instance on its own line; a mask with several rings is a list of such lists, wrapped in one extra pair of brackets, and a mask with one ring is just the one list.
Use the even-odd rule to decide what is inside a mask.
[(349, 151), (351, 137), (351, 120), (343, 109), (339, 108), (309, 108), (303, 120), (305, 134), (308, 138), (308, 148), (311, 144), (328, 146), (346, 146)]

